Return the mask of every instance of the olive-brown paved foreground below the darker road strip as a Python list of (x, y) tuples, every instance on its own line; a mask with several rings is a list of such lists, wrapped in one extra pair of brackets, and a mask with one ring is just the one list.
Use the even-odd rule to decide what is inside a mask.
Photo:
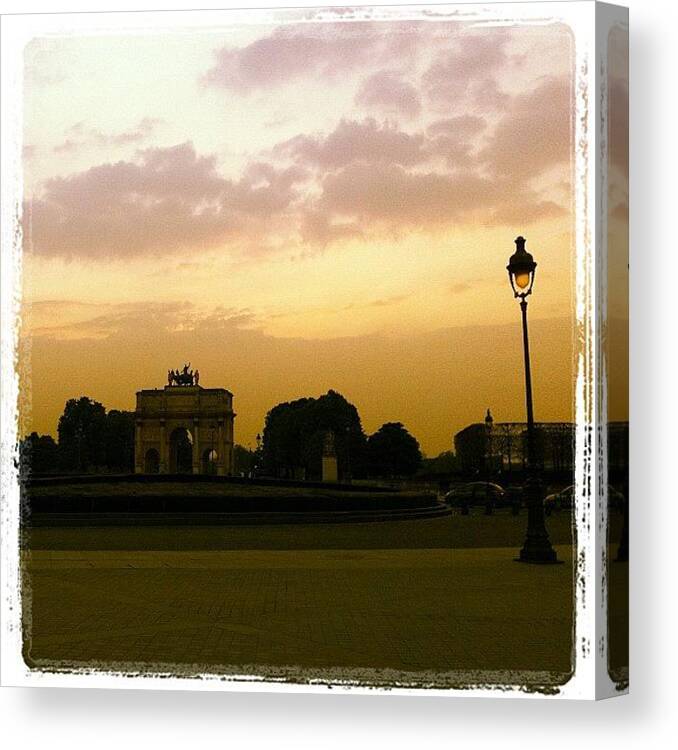
[[(513, 548), (24, 552), (25, 653), (54, 666), (568, 672), (572, 564)], [(171, 668), (171, 667), (168, 667)]]

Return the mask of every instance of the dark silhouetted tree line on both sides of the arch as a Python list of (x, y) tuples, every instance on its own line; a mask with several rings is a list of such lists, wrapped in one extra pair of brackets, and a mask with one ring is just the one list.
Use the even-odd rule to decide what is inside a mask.
[[(422, 467), (433, 469), (436, 462), (449, 466), (447, 454), (425, 461), (416, 438), (400, 422), (387, 422), (367, 435), (356, 407), (330, 390), (274, 406), (257, 450), (234, 446), (235, 473), (320, 479), (328, 434), (342, 479), (407, 477)], [(134, 412), (107, 411), (88, 396), (69, 399), (57, 440), (32, 432), (20, 442), (19, 454), (22, 470), (33, 474), (132, 473)]]

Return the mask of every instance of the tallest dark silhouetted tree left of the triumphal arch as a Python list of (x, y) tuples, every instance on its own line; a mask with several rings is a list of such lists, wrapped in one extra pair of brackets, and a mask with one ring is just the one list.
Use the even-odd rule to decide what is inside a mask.
[(66, 402), (59, 418), (59, 459), (65, 471), (87, 471), (106, 462), (106, 409), (87, 396)]

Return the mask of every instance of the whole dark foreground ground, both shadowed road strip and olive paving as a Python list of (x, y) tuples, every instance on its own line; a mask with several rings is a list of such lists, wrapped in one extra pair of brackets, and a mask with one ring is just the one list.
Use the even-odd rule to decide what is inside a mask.
[(513, 561), (525, 524), (524, 513), (500, 512), (36, 528), (25, 537), (26, 658), (42, 669), (372, 684), (563, 682), (572, 652), (570, 517), (549, 519), (565, 561), (558, 566)]

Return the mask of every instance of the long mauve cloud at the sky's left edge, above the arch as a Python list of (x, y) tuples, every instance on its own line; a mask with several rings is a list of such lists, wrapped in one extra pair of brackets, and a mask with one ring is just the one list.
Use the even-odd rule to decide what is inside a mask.
[(253, 164), (237, 182), (191, 143), (139, 151), (47, 180), (25, 205), (25, 247), (42, 255), (123, 258), (258, 238), (295, 197), (299, 167)]

